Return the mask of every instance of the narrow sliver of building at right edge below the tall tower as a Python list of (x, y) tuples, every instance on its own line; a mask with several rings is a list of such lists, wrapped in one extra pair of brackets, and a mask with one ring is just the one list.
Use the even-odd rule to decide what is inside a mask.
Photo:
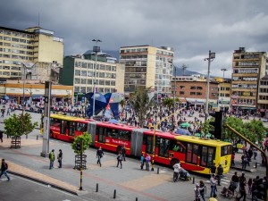
[(268, 118), (268, 75), (260, 79), (257, 104), (262, 116)]

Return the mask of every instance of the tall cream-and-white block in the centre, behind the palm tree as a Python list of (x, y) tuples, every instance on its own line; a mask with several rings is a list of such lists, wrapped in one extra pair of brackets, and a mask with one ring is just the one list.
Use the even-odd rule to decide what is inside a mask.
[(172, 47), (122, 46), (120, 63), (125, 64), (125, 95), (138, 87), (151, 88), (157, 94), (171, 94), (173, 74)]

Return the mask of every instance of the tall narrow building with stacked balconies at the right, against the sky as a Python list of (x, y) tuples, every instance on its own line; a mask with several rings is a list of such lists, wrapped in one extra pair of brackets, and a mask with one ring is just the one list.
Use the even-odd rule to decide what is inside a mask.
[(265, 52), (247, 52), (245, 47), (235, 50), (232, 58), (231, 102), (234, 111), (255, 113), (258, 83), (266, 70)]

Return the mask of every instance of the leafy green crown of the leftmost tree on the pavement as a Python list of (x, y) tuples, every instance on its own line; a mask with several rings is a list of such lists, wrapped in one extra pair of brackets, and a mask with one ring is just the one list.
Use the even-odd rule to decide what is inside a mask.
[(4, 133), (12, 137), (21, 137), (28, 135), (38, 126), (38, 122), (32, 122), (29, 113), (15, 113), (8, 119), (4, 120)]

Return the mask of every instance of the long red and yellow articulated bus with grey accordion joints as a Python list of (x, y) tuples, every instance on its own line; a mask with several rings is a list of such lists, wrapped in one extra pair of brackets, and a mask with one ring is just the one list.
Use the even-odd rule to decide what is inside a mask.
[[(102, 122), (72, 116), (51, 114), (50, 138), (72, 142), (88, 131), (93, 147), (118, 152), (122, 146), (126, 155), (153, 154), (154, 130), (141, 129), (121, 123)], [(178, 135), (173, 132), (155, 131), (155, 163), (172, 166), (180, 161), (191, 172), (210, 173), (210, 166), (222, 164), (223, 172), (229, 172), (231, 144), (220, 140)]]

